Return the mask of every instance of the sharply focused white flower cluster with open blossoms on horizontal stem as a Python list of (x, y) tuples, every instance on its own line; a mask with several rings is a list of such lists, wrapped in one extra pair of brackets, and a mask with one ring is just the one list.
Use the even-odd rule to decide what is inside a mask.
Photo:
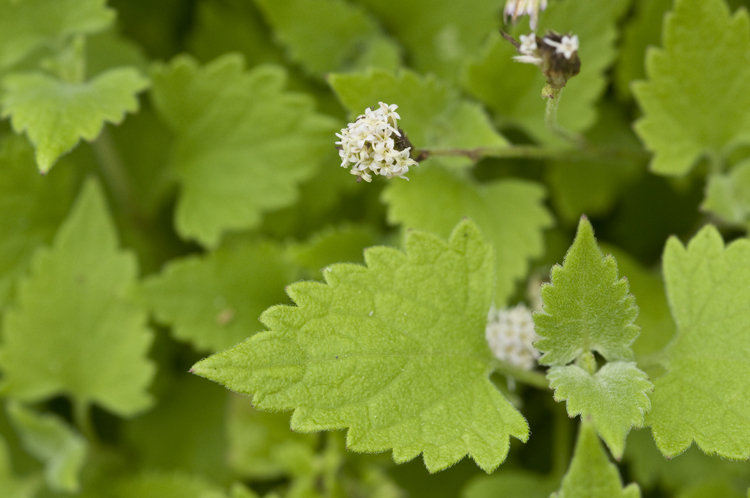
[(377, 109), (367, 108), (356, 121), (336, 133), (341, 167), (353, 165), (352, 174), (368, 182), (372, 175), (408, 180), (404, 175), (409, 166), (418, 163), (409, 157), (411, 147), (403, 147), (404, 137), (397, 124), (401, 119), (396, 112), (398, 106), (379, 104)]

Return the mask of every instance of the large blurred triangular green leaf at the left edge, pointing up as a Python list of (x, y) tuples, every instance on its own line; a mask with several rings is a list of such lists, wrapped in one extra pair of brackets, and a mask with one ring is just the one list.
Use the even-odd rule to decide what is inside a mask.
[(101, 188), (87, 182), (4, 313), (3, 393), (29, 402), (67, 394), (123, 416), (147, 408), (151, 333), (128, 298), (137, 273), (133, 255), (117, 247)]

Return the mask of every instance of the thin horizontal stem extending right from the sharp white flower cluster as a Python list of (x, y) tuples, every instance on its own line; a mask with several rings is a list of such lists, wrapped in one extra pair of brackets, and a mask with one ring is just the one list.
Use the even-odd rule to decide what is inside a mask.
[(472, 161), (485, 157), (499, 159), (553, 159), (567, 162), (600, 161), (607, 163), (646, 161), (651, 156), (641, 149), (595, 148), (584, 149), (513, 145), (505, 147), (476, 147), (473, 149), (421, 149), (419, 159), (433, 156), (464, 156)]

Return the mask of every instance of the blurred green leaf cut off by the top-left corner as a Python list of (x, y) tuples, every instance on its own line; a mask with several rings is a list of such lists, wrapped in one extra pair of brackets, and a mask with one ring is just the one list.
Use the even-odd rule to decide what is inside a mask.
[(60, 38), (106, 29), (115, 12), (105, 0), (3, 0), (0, 2), (0, 70)]

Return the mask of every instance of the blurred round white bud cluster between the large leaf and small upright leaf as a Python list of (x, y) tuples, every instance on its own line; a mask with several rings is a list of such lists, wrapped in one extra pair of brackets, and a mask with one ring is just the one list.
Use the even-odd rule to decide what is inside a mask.
[(540, 337), (534, 331), (531, 311), (523, 304), (501, 310), (493, 305), (487, 315), (485, 337), (496, 358), (524, 370), (534, 368), (540, 356), (533, 345)]

